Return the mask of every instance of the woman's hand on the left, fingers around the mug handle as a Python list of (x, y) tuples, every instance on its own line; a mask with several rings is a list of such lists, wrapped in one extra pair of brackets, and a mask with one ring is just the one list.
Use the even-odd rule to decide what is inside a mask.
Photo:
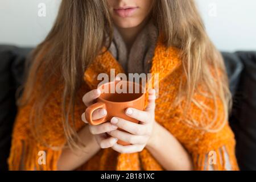
[[(86, 107), (89, 107), (90, 105), (94, 104), (95, 100), (100, 97), (101, 91), (98, 89), (91, 90), (90, 92), (86, 93), (84, 97), (82, 97), (82, 101), (84, 102)], [(92, 114), (92, 119), (101, 119), (105, 117), (107, 114), (106, 109), (97, 109)], [(82, 113), (82, 121), (85, 123), (88, 123), (85, 118), (85, 113)], [(112, 125), (110, 122), (102, 123), (101, 125), (93, 126), (89, 125), (89, 130), (92, 135), (97, 140), (98, 145), (101, 148), (110, 148), (113, 147), (115, 143), (117, 143), (117, 138), (109, 137), (107, 132), (117, 130), (117, 126)]]

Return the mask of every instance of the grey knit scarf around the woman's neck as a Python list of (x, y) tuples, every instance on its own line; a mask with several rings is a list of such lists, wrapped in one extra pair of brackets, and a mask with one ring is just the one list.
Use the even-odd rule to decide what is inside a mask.
[(117, 28), (114, 28), (114, 39), (109, 51), (126, 73), (148, 73), (157, 40), (158, 28), (150, 21), (138, 34), (129, 52)]

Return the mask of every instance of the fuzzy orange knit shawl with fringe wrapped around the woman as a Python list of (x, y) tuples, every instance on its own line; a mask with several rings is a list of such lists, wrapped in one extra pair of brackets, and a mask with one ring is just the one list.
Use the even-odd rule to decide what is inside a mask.
[[(177, 96), (181, 78), (184, 78), (182, 71), (182, 61), (180, 51), (177, 48), (166, 48), (161, 41), (158, 41), (155, 48), (155, 55), (152, 59), (151, 73), (159, 73), (159, 98), (156, 100), (155, 120), (174, 135), (193, 159), (195, 170), (209, 169), (225, 170), (227, 163), (231, 169), (237, 170), (236, 156), (234, 154), (235, 140), (228, 122), (216, 133), (208, 133), (201, 129), (195, 129), (183, 122), (187, 121), (207, 121), (205, 113), (195, 104), (191, 104), (188, 114), (184, 117), (180, 107), (173, 107), (172, 102)], [(110, 52), (105, 52), (97, 56), (92, 64), (86, 69), (84, 74), (84, 84), (77, 93), (75, 104), (76, 129), (80, 130), (85, 126), (81, 121), (81, 114), (85, 110), (82, 103), (82, 96), (90, 89), (97, 87), (97, 75), (99, 73), (110, 73), (114, 68), (115, 73), (123, 72), (121, 65), (114, 59)], [(37, 88), (35, 88), (36, 90)], [(33, 102), (20, 107), (16, 117), (11, 152), (9, 156), (9, 166), (11, 170), (18, 170), (22, 165), (26, 170), (55, 170), (57, 160), (61, 154), (60, 146), (66, 143), (63, 124), (61, 122), (61, 86), (54, 90), (44, 106), (44, 115), (40, 124), (40, 138), (48, 144), (48, 147), (40, 143), (32, 135), (29, 123)], [(35, 92), (36, 93), (36, 92)], [(213, 101), (199, 93), (195, 93), (194, 98), (198, 102), (203, 102), (214, 109)], [(185, 101), (184, 101), (185, 102)], [(218, 111), (223, 113), (221, 104)], [(213, 118), (210, 110), (207, 110), (208, 117)], [(221, 122), (221, 117), (218, 116)], [(166, 143), (168, 144), (168, 143)], [(39, 151), (46, 152), (46, 164), (39, 164)], [(208, 154), (214, 151), (216, 154), (216, 164), (210, 166)], [(23, 162), (21, 156), (24, 156)], [(225, 154), (228, 154), (225, 155)], [(23, 164), (22, 164), (23, 163)], [(82, 165), (81, 170), (162, 170), (162, 166), (154, 157), (144, 149), (142, 152), (134, 154), (119, 154), (111, 148), (100, 150), (88, 162)]]

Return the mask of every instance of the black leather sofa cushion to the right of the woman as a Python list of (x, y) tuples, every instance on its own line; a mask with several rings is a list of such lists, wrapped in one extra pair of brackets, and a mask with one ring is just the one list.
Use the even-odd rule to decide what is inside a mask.
[(256, 52), (236, 52), (244, 69), (233, 101), (232, 127), (241, 170), (256, 170)]

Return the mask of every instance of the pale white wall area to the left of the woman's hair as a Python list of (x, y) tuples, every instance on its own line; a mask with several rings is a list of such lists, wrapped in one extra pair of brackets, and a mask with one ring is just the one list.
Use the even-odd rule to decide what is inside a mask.
[[(38, 5), (46, 4), (46, 17), (38, 16)], [(60, 0), (0, 0), (0, 44), (35, 46), (55, 20)]]

